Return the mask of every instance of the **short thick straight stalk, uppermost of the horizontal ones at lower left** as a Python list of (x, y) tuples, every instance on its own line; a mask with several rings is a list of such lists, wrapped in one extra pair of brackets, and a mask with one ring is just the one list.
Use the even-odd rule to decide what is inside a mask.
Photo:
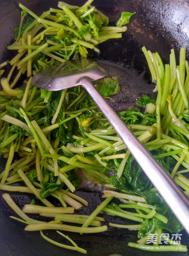
[(53, 214), (60, 214), (60, 213), (74, 213), (73, 207), (47, 207), (47, 206), (40, 206), (40, 205), (32, 205), (32, 204), (25, 204), (22, 211), (24, 213), (53, 213)]

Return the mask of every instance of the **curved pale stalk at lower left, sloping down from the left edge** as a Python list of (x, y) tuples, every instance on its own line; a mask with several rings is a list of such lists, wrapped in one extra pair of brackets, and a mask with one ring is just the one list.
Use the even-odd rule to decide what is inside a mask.
[(44, 221), (38, 221), (35, 219), (29, 218), (20, 208), (14, 203), (13, 199), (10, 197), (9, 194), (3, 194), (2, 196), (4, 200), (6, 201), (7, 204), (15, 211), (18, 216), (20, 216), (23, 220), (27, 221), (28, 223), (33, 223), (33, 224), (39, 224), (39, 223), (46, 223)]

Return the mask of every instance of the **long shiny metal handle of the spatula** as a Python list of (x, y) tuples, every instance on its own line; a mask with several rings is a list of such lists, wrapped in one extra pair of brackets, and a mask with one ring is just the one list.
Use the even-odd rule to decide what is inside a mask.
[(104, 116), (122, 139), (123, 143), (129, 149), (130, 153), (189, 234), (189, 198), (187, 198), (169, 174), (133, 135), (117, 113), (107, 104), (106, 100), (93, 86), (92, 82), (86, 78), (82, 78), (77, 84), (83, 85), (93, 98)]

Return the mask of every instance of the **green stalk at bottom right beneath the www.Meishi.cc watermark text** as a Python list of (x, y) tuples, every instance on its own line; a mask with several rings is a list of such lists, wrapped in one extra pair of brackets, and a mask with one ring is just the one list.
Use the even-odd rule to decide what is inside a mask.
[[(173, 245), (166, 245), (162, 247), (162, 245), (143, 245), (129, 242), (128, 246), (134, 247), (144, 251), (152, 251), (152, 252), (187, 252), (187, 247), (185, 245), (173, 246)], [(181, 248), (180, 248), (181, 247)]]

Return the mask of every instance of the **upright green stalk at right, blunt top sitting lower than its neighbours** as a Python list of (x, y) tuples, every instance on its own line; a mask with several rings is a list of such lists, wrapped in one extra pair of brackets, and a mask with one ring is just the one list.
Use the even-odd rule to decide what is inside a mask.
[(170, 66), (169, 64), (165, 65), (165, 75), (164, 75), (164, 84), (162, 90), (162, 97), (161, 97), (161, 104), (160, 104), (160, 113), (164, 114), (167, 109), (167, 101), (166, 97), (169, 91), (169, 84), (170, 84)]

